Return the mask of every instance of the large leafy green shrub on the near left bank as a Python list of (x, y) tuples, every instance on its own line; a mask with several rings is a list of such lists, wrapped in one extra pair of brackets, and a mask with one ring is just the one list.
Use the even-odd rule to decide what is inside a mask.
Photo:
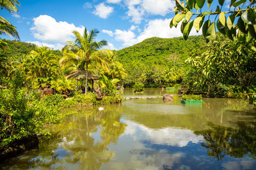
[(0, 148), (24, 137), (49, 134), (44, 125), (60, 123), (66, 117), (57, 104), (49, 104), (51, 97), (40, 101), (29, 97), (35, 96), (26, 96), (20, 89), (0, 91)]

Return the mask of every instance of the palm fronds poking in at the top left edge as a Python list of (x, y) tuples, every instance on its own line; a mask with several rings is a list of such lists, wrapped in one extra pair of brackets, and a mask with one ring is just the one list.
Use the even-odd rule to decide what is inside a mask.
[[(19, 2), (17, 0), (1, 0), (0, 6), (1, 10), (6, 9), (10, 13), (16, 13), (18, 11), (17, 6)], [(19, 34), (15, 29), (16, 27), (13, 26), (8, 20), (4, 19), (0, 16), (0, 35), (8, 35), (12, 36), (13, 38), (19, 39)]]

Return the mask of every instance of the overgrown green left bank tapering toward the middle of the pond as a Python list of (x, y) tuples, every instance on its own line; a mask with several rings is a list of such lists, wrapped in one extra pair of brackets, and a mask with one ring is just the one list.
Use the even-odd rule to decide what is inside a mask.
[(0, 92), (0, 162), (38, 146), (37, 136), (49, 136), (47, 124), (61, 124), (72, 114), (61, 113), (62, 108), (85, 107), (120, 103), (122, 97), (93, 93), (75, 94), (64, 99), (60, 94), (40, 98), (35, 91), (11, 89)]

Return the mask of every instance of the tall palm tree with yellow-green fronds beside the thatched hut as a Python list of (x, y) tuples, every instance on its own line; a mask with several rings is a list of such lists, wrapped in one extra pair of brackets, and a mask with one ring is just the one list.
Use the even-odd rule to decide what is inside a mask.
[(87, 93), (88, 64), (91, 62), (106, 64), (104, 58), (113, 55), (111, 50), (99, 50), (103, 46), (108, 45), (108, 43), (105, 40), (99, 41), (99, 43), (95, 42), (98, 33), (99, 31), (96, 29), (89, 33), (85, 28), (84, 35), (81, 36), (79, 32), (73, 31), (76, 37), (75, 42), (67, 41), (68, 45), (64, 46), (61, 50), (63, 53), (63, 58), (60, 60), (61, 66), (67, 67), (76, 64), (78, 66), (76, 69), (77, 74), (84, 74), (84, 71), (86, 71), (85, 93)]

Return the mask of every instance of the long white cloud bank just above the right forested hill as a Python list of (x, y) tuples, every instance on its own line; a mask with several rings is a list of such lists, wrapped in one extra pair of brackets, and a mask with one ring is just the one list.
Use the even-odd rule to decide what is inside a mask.
[[(116, 29), (115, 32), (112, 32), (117, 41), (123, 42), (123, 46), (131, 46), (136, 43), (140, 43), (144, 39), (159, 37), (159, 38), (174, 38), (183, 36), (180, 32), (180, 25), (177, 25), (177, 28), (172, 27), (170, 29), (170, 21), (172, 18), (156, 19), (150, 20), (148, 25), (144, 28), (142, 32), (138, 36), (133, 32), (134, 27), (131, 27), (128, 31)], [(133, 29), (133, 30), (132, 30)], [(192, 28), (189, 36), (195, 36), (202, 34), (202, 31), (196, 32), (194, 28)]]

